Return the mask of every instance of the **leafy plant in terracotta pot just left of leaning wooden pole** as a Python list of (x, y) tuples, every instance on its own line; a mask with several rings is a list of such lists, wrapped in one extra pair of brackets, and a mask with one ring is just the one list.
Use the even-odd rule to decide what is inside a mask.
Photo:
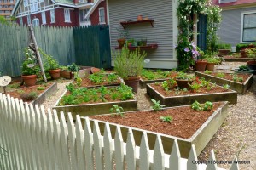
[(38, 60), (31, 48), (24, 49), (25, 59), (23, 60), (21, 71), (22, 80), (26, 87), (34, 86), (37, 83), (37, 74), (40, 71)]

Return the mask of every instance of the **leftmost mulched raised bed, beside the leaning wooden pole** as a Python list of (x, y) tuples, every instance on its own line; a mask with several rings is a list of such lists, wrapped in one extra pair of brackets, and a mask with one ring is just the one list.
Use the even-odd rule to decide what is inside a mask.
[[(18, 82), (17, 84), (20, 83)], [(15, 90), (8, 91), (7, 94), (26, 102), (32, 102), (33, 105), (42, 105), (44, 101), (57, 90), (57, 82), (37, 84), (29, 88), (25, 86), (17, 86), (15, 88)]]

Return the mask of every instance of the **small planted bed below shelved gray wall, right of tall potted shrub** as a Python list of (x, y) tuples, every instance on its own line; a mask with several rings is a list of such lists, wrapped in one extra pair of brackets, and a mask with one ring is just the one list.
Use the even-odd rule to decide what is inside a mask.
[(175, 71), (151, 71), (143, 70), (140, 79), (140, 85), (142, 88), (146, 88), (148, 83), (164, 82), (166, 79), (175, 77), (177, 72)]

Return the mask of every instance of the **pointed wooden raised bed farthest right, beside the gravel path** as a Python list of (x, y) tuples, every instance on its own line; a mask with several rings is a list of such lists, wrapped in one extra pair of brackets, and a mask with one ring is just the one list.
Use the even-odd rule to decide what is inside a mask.
[(216, 82), (218, 85), (228, 84), (230, 89), (239, 94), (245, 94), (253, 84), (253, 74), (231, 74), (231, 73), (203, 73), (195, 72), (195, 76), (204, 77), (206, 80)]

